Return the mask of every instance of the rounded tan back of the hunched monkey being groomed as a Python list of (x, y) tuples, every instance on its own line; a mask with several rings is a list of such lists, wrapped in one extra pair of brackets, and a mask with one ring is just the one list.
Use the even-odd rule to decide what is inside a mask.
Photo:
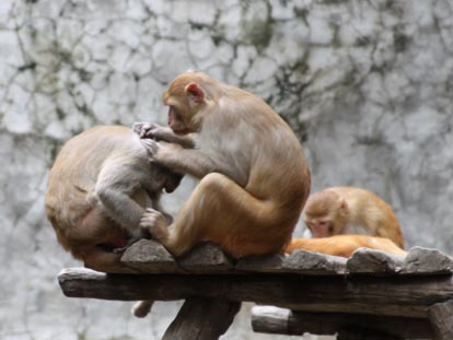
[(104, 162), (121, 154), (146, 156), (138, 136), (121, 126), (93, 127), (62, 146), (48, 176), (46, 214), (65, 247), (94, 204), (90, 198)]

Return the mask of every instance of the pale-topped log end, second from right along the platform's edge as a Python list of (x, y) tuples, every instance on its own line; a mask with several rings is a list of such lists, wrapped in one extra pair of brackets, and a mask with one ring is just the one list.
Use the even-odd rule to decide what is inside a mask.
[(348, 259), (348, 273), (396, 274), (400, 271), (404, 256), (379, 251), (370, 248), (359, 248)]

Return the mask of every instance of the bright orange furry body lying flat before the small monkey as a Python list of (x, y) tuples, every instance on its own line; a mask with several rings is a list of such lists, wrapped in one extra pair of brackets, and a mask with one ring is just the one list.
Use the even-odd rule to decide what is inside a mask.
[(350, 257), (360, 247), (405, 256), (407, 253), (392, 239), (368, 235), (335, 235), (324, 238), (293, 238), (284, 253), (303, 249), (327, 255)]

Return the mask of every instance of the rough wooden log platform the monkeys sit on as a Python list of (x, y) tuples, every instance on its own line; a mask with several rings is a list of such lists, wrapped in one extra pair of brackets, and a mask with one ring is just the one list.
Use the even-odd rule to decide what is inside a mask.
[(413, 248), (397, 257), (359, 249), (349, 259), (298, 250), (233, 261), (206, 243), (177, 261), (152, 241), (126, 250), (118, 272), (63, 269), (65, 295), (186, 300), (163, 339), (218, 339), (241, 302), (255, 331), (338, 333), (338, 339), (453, 339), (453, 259)]

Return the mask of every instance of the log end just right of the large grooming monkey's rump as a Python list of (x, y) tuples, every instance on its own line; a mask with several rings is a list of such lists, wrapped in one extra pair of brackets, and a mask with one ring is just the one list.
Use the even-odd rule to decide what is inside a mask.
[(295, 250), (288, 256), (282, 269), (299, 274), (332, 275), (346, 271), (346, 258), (309, 250)]

